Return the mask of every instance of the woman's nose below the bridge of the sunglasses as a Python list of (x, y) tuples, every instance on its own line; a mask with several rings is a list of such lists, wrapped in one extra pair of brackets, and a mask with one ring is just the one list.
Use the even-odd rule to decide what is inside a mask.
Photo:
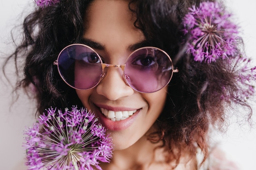
[(123, 78), (121, 68), (105, 68), (106, 75), (97, 86), (97, 93), (109, 100), (132, 95), (134, 90), (128, 86)]

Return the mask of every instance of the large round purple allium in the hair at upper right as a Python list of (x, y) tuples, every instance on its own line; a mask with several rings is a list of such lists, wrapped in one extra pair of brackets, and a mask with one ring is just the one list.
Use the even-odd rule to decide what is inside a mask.
[(231, 14), (218, 2), (202, 2), (189, 9), (183, 20), (184, 34), (189, 34), (187, 53), (195, 61), (215, 62), (236, 53), (238, 27), (230, 21)]

